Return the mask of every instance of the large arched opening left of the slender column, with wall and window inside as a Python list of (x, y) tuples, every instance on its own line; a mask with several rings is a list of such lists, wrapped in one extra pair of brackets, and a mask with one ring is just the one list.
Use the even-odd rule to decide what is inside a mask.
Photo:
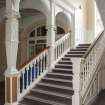
[(37, 9), (20, 10), (17, 65), (35, 57), (46, 47), (46, 16)]

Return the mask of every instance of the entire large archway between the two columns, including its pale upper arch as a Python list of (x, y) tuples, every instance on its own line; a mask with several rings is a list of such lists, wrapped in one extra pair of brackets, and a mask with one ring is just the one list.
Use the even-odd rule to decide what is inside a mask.
[[(31, 2), (29, 0), (25, 0), (20, 2), (20, 43), (18, 49), (17, 67), (24, 64), (46, 47), (46, 35), (38, 36), (36, 34), (37, 31), (41, 31), (41, 29), (42, 31), (46, 31), (46, 17), (49, 12), (49, 6), (47, 4), (48, 2), (43, 0), (31, 0)], [(32, 37), (33, 33), (35, 36)]]

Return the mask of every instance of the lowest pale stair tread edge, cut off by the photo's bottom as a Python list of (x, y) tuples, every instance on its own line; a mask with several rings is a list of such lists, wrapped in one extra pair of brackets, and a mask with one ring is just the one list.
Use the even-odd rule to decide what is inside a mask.
[(55, 101), (49, 101), (49, 100), (46, 100), (46, 99), (42, 99), (42, 98), (38, 98), (38, 97), (35, 97), (35, 96), (25, 96), (26, 99), (30, 99), (30, 100), (37, 100), (37, 101), (40, 101), (40, 102), (43, 102), (45, 104), (51, 104), (51, 105), (66, 105), (66, 104), (62, 104), (62, 103), (58, 103), (58, 102), (55, 102)]

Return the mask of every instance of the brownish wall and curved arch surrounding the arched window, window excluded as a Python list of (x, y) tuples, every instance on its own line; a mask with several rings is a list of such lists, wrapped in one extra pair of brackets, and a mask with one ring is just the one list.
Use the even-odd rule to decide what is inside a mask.
[(20, 52), (20, 54), (18, 54), (18, 62), (20, 63), (19, 65), (25, 63), (27, 60), (31, 58), (31, 56), (29, 57), (30, 32), (34, 30), (35, 27), (38, 27), (41, 24), (44, 25), (46, 24), (46, 15), (40, 10), (33, 8), (21, 8), (20, 14), (21, 14), (20, 26), (22, 30), (20, 30), (20, 43), (19, 43), (20, 50), (18, 51)]

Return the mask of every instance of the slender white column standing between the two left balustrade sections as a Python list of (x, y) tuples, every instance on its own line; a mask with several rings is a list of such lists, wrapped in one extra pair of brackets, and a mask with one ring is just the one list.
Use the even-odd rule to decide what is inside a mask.
[(55, 59), (55, 34), (56, 34), (56, 27), (55, 27), (55, 6), (54, 3), (50, 2), (50, 13), (47, 17), (47, 46), (50, 46), (49, 53), (48, 53), (48, 66), (51, 70), (54, 67), (54, 59)]

